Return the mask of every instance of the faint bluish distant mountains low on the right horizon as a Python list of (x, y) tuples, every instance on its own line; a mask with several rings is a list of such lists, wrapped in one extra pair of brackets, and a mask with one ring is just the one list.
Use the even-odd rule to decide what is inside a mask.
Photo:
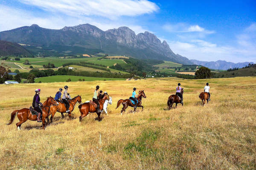
[(205, 67), (212, 68), (212, 69), (218, 69), (218, 70), (227, 70), (229, 68), (243, 68), (246, 65), (253, 64), (253, 62), (239, 62), (239, 63), (233, 63), (233, 62), (226, 62), (223, 60), (218, 61), (198, 61), (195, 59), (190, 59), (191, 62), (193, 62), (196, 65), (204, 65)]

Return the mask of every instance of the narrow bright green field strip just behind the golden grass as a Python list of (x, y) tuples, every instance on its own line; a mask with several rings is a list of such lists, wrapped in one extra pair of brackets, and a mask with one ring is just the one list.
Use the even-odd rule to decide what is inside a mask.
[(115, 78), (101, 78), (101, 77), (83, 77), (83, 76), (49, 76), (49, 77), (39, 77), (35, 79), (35, 82), (66, 82), (67, 79), (71, 79), (71, 82), (77, 82), (79, 79), (84, 79), (84, 81), (96, 81), (96, 80), (125, 80), (125, 79), (115, 79)]

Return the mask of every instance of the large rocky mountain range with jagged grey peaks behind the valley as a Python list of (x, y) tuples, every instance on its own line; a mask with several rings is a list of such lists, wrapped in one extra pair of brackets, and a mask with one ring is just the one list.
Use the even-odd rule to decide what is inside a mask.
[(29, 50), (43, 54), (125, 55), (138, 59), (157, 59), (192, 64), (189, 59), (174, 54), (166, 41), (161, 42), (148, 31), (135, 34), (128, 27), (102, 31), (96, 26), (82, 24), (59, 30), (38, 25), (23, 26), (0, 32), (0, 40), (29, 44)]

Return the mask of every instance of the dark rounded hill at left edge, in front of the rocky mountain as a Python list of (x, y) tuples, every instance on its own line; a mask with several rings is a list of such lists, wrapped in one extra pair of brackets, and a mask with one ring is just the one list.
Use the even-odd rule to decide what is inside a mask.
[(26, 50), (23, 46), (9, 41), (0, 40), (0, 56), (8, 55), (31, 55), (31, 53)]

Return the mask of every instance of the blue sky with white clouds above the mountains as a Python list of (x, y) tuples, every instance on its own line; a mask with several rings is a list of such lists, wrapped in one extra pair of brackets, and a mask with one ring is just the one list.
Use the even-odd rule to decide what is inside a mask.
[(0, 0), (0, 31), (38, 24), (128, 26), (189, 59), (256, 62), (256, 0)]

